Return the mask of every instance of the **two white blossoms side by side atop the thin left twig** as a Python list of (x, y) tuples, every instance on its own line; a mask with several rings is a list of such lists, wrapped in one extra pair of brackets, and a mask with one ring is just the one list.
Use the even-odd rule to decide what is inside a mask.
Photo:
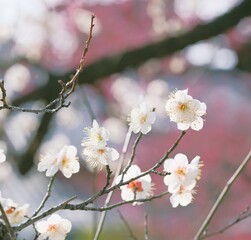
[(73, 145), (65, 145), (57, 155), (47, 153), (40, 157), (38, 171), (46, 171), (47, 177), (52, 177), (59, 170), (62, 174), (70, 178), (73, 173), (79, 172), (77, 149)]

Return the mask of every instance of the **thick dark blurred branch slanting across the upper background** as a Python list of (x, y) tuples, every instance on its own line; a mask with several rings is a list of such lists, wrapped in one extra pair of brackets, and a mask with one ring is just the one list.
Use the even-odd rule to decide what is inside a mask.
[[(187, 46), (202, 40), (217, 36), (234, 27), (240, 20), (251, 15), (251, 1), (244, 0), (235, 8), (216, 18), (215, 20), (200, 24), (188, 32), (178, 36), (165, 38), (159, 42), (147, 44), (143, 47), (126, 50), (120, 54), (102, 58), (93, 64), (86, 66), (79, 78), (80, 84), (94, 84), (97, 80), (122, 72), (129, 67), (137, 67), (151, 58), (163, 58), (169, 56)], [(66, 73), (69, 76), (72, 73)], [(13, 103), (19, 105), (31, 99), (45, 99), (45, 91), (55, 92), (55, 84), (51, 79), (62, 79), (64, 76), (50, 74), (47, 85), (35, 90), (33, 93), (16, 99)]]

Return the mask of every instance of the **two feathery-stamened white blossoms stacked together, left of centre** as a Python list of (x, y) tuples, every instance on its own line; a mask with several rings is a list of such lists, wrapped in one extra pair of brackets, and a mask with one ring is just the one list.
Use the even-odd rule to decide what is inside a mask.
[(81, 145), (84, 147), (85, 160), (91, 167), (102, 170), (111, 161), (119, 158), (117, 150), (107, 146), (109, 131), (100, 127), (96, 120), (93, 120), (92, 128), (86, 128), (84, 131), (87, 136)]

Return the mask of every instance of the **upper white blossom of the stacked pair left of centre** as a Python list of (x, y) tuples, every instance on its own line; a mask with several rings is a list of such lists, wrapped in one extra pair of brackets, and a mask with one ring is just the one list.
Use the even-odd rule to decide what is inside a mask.
[(82, 146), (106, 146), (107, 141), (109, 140), (109, 131), (100, 127), (96, 120), (93, 120), (92, 128), (85, 128), (87, 137), (82, 142)]

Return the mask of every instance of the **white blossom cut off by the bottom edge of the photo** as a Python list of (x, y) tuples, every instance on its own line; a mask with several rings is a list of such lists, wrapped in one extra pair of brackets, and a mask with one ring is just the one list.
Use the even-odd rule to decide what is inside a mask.
[(71, 231), (71, 227), (71, 222), (58, 214), (52, 214), (47, 221), (35, 224), (35, 228), (40, 234), (38, 240), (64, 240), (67, 233)]

